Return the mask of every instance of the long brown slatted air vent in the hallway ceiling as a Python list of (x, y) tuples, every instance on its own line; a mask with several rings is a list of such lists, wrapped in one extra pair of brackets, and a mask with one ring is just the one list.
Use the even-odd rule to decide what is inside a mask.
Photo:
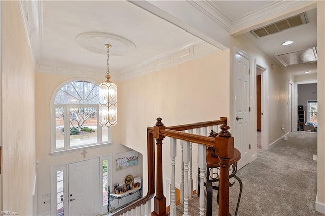
[(298, 25), (306, 24), (306, 23), (308, 23), (308, 20), (307, 20), (306, 13), (304, 12), (295, 15), (293, 17), (289, 17), (287, 19), (283, 19), (281, 21), (264, 26), (262, 28), (257, 28), (255, 30), (252, 30), (251, 33), (255, 35), (257, 38), (260, 38), (266, 35), (277, 33), (282, 30), (292, 28)]

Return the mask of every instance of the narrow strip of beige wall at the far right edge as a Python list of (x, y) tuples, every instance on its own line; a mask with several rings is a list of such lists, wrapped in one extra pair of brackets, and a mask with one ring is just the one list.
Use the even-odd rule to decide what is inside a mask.
[[(325, 213), (325, 2), (317, 2), (317, 96), (318, 96), (318, 139), (317, 139), (317, 190), (318, 201), (322, 203)], [(316, 205), (317, 207), (317, 205)]]

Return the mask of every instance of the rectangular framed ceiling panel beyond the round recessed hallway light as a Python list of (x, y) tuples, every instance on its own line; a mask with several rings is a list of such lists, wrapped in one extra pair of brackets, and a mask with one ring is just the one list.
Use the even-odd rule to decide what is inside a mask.
[(317, 47), (274, 56), (283, 66), (317, 61)]

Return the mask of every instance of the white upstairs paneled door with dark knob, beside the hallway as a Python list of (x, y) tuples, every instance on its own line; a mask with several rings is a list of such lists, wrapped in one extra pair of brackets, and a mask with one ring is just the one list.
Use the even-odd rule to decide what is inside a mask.
[(235, 148), (242, 157), (238, 162), (238, 169), (250, 162), (249, 140), (249, 58), (241, 53), (235, 54)]

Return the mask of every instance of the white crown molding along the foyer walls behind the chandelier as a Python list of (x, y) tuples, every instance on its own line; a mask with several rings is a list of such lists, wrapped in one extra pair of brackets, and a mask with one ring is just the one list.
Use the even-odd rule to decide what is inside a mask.
[[(111, 72), (113, 81), (123, 81), (147, 73), (151, 73), (160, 69), (171, 67), (184, 63), (185, 61), (209, 55), (221, 51), (213, 45), (206, 42), (193, 43), (183, 46), (174, 52), (156, 55), (140, 65), (126, 70), (126, 73)], [(125, 71), (122, 69), (120, 71)], [(46, 59), (42, 59), (36, 64), (36, 72), (58, 74), (72, 77), (86, 77), (93, 79), (104, 79), (105, 70), (99, 68), (83, 67), (67, 63), (58, 63)]]

